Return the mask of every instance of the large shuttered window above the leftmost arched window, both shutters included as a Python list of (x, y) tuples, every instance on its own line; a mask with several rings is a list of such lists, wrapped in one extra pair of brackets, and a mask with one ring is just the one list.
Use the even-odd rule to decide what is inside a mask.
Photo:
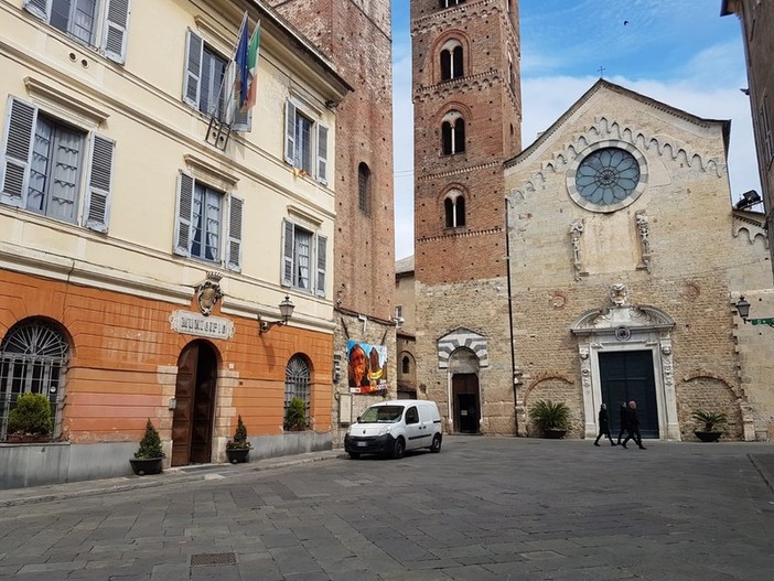
[(0, 203), (72, 224), (83, 207), (80, 223), (107, 232), (112, 155), (112, 141), (97, 135), (89, 139), (86, 131), (11, 98)]

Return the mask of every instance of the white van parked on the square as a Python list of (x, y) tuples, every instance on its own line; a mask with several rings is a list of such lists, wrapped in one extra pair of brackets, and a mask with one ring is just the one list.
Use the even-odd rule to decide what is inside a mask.
[(434, 401), (394, 399), (368, 407), (344, 437), (351, 458), (385, 454), (402, 458), (406, 450), (441, 451), (441, 415)]

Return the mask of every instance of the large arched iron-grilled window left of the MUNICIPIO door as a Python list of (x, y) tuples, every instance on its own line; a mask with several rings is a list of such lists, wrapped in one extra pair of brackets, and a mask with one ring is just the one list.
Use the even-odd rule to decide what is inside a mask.
[(6, 438), (8, 415), (22, 394), (49, 398), (54, 435), (60, 434), (68, 358), (67, 340), (46, 321), (25, 320), (9, 330), (0, 343), (0, 438)]

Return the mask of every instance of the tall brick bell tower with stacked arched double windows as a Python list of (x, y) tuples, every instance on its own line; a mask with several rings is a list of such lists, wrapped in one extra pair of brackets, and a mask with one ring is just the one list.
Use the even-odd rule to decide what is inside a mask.
[(518, 0), (412, 0), (417, 384), (452, 433), (516, 433), (503, 161)]

